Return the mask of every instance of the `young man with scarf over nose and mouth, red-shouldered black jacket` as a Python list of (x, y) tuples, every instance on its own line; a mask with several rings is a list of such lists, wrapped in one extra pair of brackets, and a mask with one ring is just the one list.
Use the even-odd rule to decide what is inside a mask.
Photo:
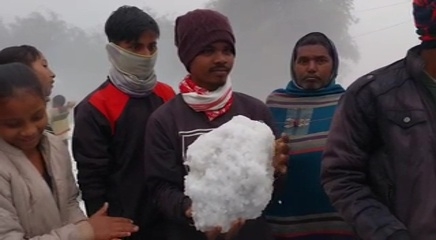
[(109, 203), (108, 214), (132, 219), (150, 236), (153, 221), (143, 174), (144, 134), (151, 113), (175, 93), (154, 72), (159, 27), (137, 7), (108, 18), (107, 80), (75, 109), (73, 154), (88, 215)]

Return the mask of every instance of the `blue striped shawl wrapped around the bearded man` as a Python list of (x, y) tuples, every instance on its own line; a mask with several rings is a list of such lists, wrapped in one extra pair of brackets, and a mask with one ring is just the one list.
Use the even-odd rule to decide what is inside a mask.
[(341, 95), (302, 97), (276, 91), (267, 99), (277, 129), (291, 138), (284, 189), (266, 210), (277, 240), (354, 239), (320, 183), (322, 152)]

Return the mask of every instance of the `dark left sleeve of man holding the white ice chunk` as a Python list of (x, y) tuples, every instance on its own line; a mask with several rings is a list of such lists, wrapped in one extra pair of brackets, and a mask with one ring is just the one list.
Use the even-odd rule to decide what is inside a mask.
[(153, 114), (145, 134), (145, 175), (150, 194), (163, 215), (171, 220), (189, 223), (185, 211), (191, 200), (184, 194), (183, 162), (177, 157), (176, 139), (171, 141), (171, 126), (163, 126)]

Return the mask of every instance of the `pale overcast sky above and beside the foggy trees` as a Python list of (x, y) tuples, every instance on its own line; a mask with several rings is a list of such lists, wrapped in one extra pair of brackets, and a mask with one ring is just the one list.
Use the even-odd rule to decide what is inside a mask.
[[(5, 3), (6, 1), (6, 3)], [(237, 0), (235, 0), (237, 1)], [(270, 0), (273, 1), (273, 0)], [(302, 0), (289, 0), (302, 1)], [(304, 0), (310, 1), (310, 0)], [(340, 0), (330, 0), (332, 3)], [(109, 14), (120, 5), (145, 5), (159, 14), (178, 14), (202, 7), (206, 0), (2, 0), (0, 16), (10, 21), (15, 16), (32, 11), (59, 13), (67, 22), (82, 28), (101, 26)], [(412, 0), (355, 0), (354, 15), (359, 22), (351, 28), (351, 34), (361, 52), (361, 60), (347, 76), (348, 85), (356, 77), (387, 65), (406, 54), (417, 44), (412, 21)]]

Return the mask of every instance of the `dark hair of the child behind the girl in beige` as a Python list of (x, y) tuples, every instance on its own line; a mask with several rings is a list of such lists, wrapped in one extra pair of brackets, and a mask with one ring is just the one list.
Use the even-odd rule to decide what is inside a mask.
[(19, 62), (30, 67), (40, 57), (41, 53), (33, 46), (12, 46), (0, 51), (0, 64)]

